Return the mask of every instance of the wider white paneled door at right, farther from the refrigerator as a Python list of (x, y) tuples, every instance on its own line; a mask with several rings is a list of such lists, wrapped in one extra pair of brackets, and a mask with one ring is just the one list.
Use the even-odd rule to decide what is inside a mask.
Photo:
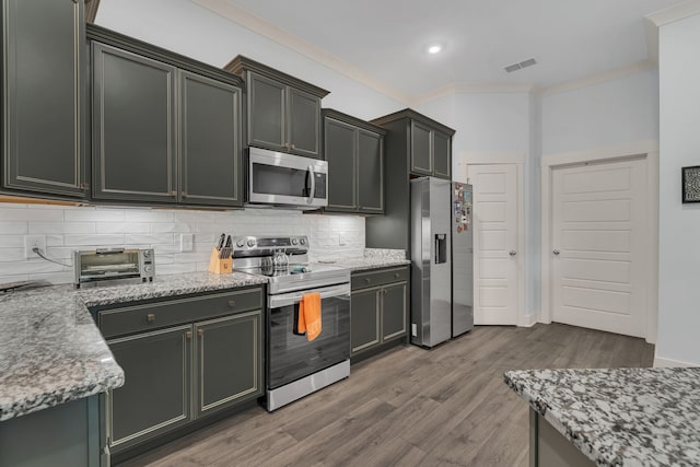
[(644, 336), (643, 160), (552, 171), (552, 320)]

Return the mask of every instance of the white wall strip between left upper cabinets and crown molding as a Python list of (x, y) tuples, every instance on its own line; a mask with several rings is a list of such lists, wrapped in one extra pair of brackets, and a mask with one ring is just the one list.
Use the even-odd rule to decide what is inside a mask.
[(320, 86), (323, 106), (372, 119), (406, 105), (189, 0), (102, 0), (95, 24), (223, 67), (244, 55)]

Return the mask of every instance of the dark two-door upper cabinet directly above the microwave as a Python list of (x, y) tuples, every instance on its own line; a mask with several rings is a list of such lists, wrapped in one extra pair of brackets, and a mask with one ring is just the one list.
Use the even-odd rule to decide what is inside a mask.
[(246, 82), (247, 145), (323, 159), (320, 100), (328, 91), (243, 56), (224, 70)]

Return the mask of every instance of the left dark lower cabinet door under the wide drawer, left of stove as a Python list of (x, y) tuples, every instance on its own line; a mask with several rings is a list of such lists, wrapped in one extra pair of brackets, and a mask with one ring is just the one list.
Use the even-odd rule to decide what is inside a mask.
[(126, 378), (106, 398), (113, 453), (190, 420), (191, 339), (179, 326), (107, 342)]

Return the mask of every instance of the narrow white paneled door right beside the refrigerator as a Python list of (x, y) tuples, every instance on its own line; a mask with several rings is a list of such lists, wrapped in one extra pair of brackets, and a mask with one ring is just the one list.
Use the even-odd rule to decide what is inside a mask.
[(517, 165), (469, 165), (474, 185), (474, 324), (516, 325)]

